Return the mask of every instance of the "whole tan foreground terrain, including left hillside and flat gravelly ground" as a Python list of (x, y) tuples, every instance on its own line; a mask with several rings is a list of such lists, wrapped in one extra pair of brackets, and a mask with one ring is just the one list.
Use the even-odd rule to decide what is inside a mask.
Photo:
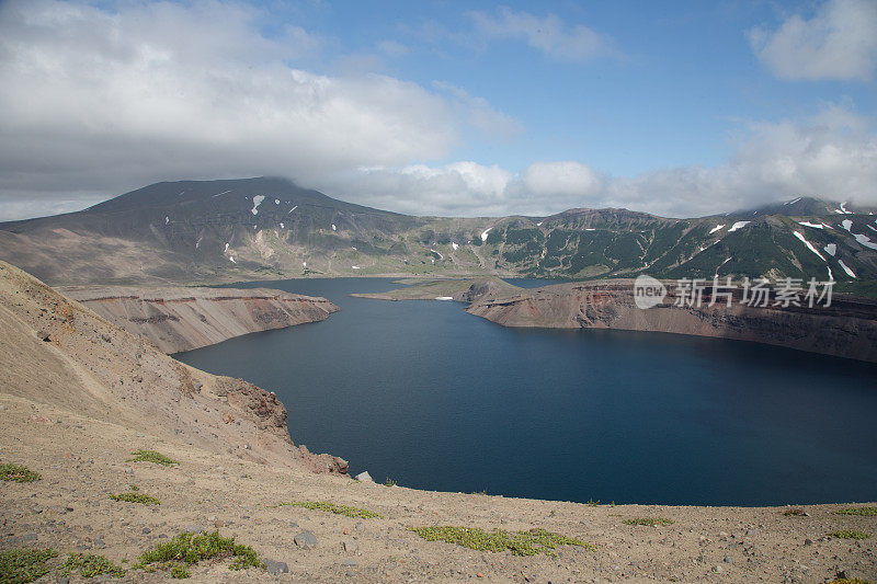
[[(41, 476), (33, 482), (0, 482), (0, 553), (55, 549), (58, 556), (43, 564), (48, 573), (41, 582), (56, 582), (70, 553), (102, 556), (125, 570), (110, 582), (166, 582), (170, 566), (136, 568), (140, 554), (182, 533), (213, 530), (252, 546), (265, 568), (232, 571), (229, 560), (202, 561), (187, 566), (193, 582), (877, 577), (877, 517), (862, 504), (584, 505), (316, 474), (277, 426), (260, 425), (264, 416), (235, 405), (253, 394), (270, 404), (270, 394), (178, 369), (184, 366), (149, 342), (8, 265), (0, 265), (0, 462), (24, 465)], [(195, 390), (181, 391), (189, 387), (182, 370)], [(225, 396), (214, 391), (226, 383)], [(218, 425), (217, 411), (232, 413), (241, 425)], [(178, 424), (176, 415), (184, 423)], [(251, 449), (236, 448), (243, 444)], [(138, 449), (157, 450), (172, 461), (132, 460)], [(114, 494), (148, 495), (159, 504), (116, 501)], [(304, 502), (355, 508), (332, 514), (287, 505)], [(856, 511), (840, 513), (848, 508)], [(364, 516), (371, 513), (379, 516)], [(480, 528), (485, 535), (472, 549), (422, 539), (411, 530), (442, 526)], [(516, 551), (494, 529), (514, 535)], [(549, 553), (539, 553), (538, 543), (521, 545), (524, 538), (547, 540), (545, 531), (533, 529), (576, 540), (555, 540), (554, 549), (544, 550)], [(424, 535), (453, 539), (467, 533), (472, 534), (433, 529)], [(519, 554), (528, 552), (536, 553)], [(84, 580), (79, 569), (67, 577), (94, 581)]]

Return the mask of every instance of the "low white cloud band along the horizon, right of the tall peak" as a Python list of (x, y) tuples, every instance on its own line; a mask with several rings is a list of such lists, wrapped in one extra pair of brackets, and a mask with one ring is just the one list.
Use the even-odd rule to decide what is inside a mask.
[(625, 207), (695, 217), (815, 196), (877, 204), (873, 119), (830, 104), (807, 119), (745, 125), (726, 164), (607, 176), (576, 161), (539, 161), (521, 173), (475, 162), (381, 168), (318, 185), (341, 198), (410, 214), (551, 215)]

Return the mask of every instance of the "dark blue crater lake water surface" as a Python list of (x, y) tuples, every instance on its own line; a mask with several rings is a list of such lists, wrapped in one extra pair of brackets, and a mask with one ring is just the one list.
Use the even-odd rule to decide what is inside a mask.
[(719, 339), (508, 329), (457, 302), (348, 296), (398, 287), (380, 278), (236, 286), (342, 311), (176, 357), (275, 391), (294, 442), (354, 474), (579, 502), (877, 500), (874, 365)]

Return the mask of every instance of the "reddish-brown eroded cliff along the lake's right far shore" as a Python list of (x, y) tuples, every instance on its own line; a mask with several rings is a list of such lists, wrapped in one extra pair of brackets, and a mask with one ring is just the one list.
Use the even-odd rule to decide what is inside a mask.
[(482, 296), (466, 309), (505, 327), (620, 329), (717, 336), (877, 362), (877, 301), (835, 295), (831, 307), (676, 307), (674, 290), (642, 310), (633, 280), (558, 284), (513, 295)]

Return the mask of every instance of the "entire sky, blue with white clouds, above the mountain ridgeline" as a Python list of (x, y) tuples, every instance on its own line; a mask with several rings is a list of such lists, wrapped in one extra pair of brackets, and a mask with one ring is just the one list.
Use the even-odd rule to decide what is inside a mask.
[(8, 0), (0, 218), (255, 174), (442, 215), (874, 203), (876, 66), (877, 0)]

